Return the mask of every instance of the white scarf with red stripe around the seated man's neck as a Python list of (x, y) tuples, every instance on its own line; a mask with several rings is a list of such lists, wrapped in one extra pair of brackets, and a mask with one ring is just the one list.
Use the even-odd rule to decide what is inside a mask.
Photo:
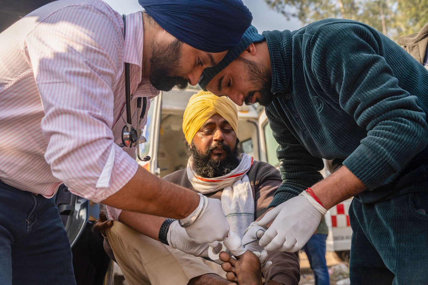
[(243, 154), (241, 163), (226, 175), (215, 178), (204, 178), (197, 175), (187, 162), (187, 178), (196, 191), (202, 194), (217, 192), (223, 189), (221, 205), (230, 230), (241, 239), (245, 229), (254, 222), (254, 197), (247, 172), (253, 165), (253, 157)]

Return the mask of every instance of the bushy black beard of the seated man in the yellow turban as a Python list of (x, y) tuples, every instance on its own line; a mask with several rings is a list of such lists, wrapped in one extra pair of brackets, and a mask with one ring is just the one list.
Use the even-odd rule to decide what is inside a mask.
[[(241, 155), (244, 152), (239, 140), (236, 139), (235, 149), (232, 151), (228, 145), (217, 142), (216, 145), (209, 148), (204, 153), (199, 153), (196, 149), (196, 145), (192, 142), (192, 147), (189, 148), (190, 157), (192, 159), (192, 168), (201, 177), (204, 178), (214, 178), (226, 175), (231, 172), (233, 169), (238, 167), (241, 163)], [(212, 159), (210, 157), (211, 151), (215, 147), (222, 146), (223, 150), (226, 151), (226, 158), (223, 160)]]

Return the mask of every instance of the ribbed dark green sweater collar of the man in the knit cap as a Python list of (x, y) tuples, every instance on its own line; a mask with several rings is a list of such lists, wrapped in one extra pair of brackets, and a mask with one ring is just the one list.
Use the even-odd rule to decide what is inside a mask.
[(270, 67), (272, 68), (273, 94), (285, 93), (291, 79), (292, 70), (292, 47), (291, 32), (289, 30), (265, 31), (263, 36), (268, 44)]

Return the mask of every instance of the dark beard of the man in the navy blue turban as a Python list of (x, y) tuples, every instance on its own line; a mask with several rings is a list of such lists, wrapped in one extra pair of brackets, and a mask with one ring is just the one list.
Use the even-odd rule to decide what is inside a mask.
[(187, 80), (183, 77), (172, 76), (180, 70), (181, 47), (183, 42), (175, 39), (166, 47), (156, 43), (150, 57), (149, 80), (160, 91), (170, 91), (177, 86), (180, 90), (187, 88)]

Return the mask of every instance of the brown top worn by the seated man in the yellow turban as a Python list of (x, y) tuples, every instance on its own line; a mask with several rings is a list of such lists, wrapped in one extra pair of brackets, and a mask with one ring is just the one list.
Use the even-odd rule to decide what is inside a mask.
[[(272, 201), (273, 193), (281, 185), (282, 179), (278, 169), (268, 163), (256, 160), (254, 160), (247, 175), (253, 190), (255, 203), (254, 220), (256, 220), (267, 210), (270, 201)], [(195, 191), (187, 178), (186, 169), (177, 170), (166, 175), (163, 179)], [(222, 192), (223, 190), (219, 190), (206, 196), (221, 199)], [(273, 264), (265, 273), (266, 280), (274, 280), (287, 285), (298, 285), (300, 280), (300, 264), (297, 252), (272, 251), (268, 254), (268, 261), (272, 261)]]

